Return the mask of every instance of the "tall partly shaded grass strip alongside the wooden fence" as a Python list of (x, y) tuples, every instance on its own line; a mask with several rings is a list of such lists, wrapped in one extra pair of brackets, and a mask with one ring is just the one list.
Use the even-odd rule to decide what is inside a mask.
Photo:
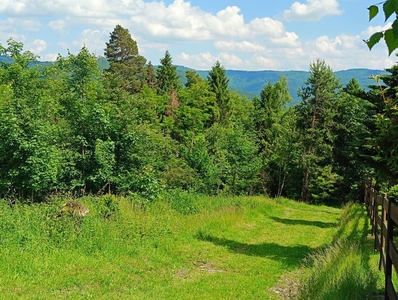
[(380, 294), (383, 273), (369, 233), (365, 209), (347, 205), (333, 243), (309, 256), (310, 272), (298, 299), (371, 299)]

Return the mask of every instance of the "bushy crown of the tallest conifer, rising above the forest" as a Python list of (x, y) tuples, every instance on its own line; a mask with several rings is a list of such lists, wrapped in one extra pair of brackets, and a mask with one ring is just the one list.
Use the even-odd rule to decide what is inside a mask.
[(132, 39), (129, 30), (116, 25), (104, 51), (110, 64), (108, 80), (113, 80), (113, 86), (132, 94), (139, 92), (146, 59), (139, 55), (137, 42)]

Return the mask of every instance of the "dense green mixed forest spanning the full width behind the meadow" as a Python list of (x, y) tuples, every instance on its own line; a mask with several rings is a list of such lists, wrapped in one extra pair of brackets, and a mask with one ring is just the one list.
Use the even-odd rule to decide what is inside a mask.
[(398, 190), (397, 65), (365, 91), (318, 59), (291, 105), (285, 77), (249, 99), (218, 61), (181, 84), (168, 51), (155, 68), (120, 25), (104, 47), (101, 71), (86, 47), (39, 65), (20, 42), (0, 46), (0, 198), (184, 190), (338, 205), (364, 179)]

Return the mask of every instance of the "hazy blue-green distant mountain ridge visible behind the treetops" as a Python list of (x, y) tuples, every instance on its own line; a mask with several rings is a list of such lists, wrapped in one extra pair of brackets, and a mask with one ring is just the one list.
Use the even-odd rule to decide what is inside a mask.
[[(10, 62), (10, 60), (0, 55), (0, 62)], [(107, 69), (109, 63), (104, 57), (98, 58), (98, 63), (101, 68)], [(38, 62), (38, 64), (48, 65), (50, 62)], [(156, 67), (156, 66), (155, 66)], [(185, 84), (187, 79), (185, 72), (190, 70), (183, 66), (177, 66), (177, 73), (180, 76), (180, 81)], [(207, 78), (208, 71), (196, 71), (202, 78)], [(363, 89), (366, 89), (368, 85), (375, 84), (374, 80), (370, 77), (372, 75), (385, 74), (384, 70), (371, 70), (371, 69), (348, 69), (343, 71), (336, 71), (336, 77), (340, 78), (341, 83), (346, 85), (352, 78), (355, 78)], [(288, 80), (288, 87), (290, 95), (293, 98), (291, 104), (295, 104), (300, 101), (297, 95), (299, 89), (305, 85), (305, 81), (309, 77), (308, 71), (235, 71), (227, 70), (227, 76), (229, 78), (229, 88), (233, 91), (237, 91), (242, 95), (246, 95), (249, 98), (259, 96), (261, 90), (267, 84), (267, 82), (275, 83), (279, 80), (280, 76), (285, 76)]]

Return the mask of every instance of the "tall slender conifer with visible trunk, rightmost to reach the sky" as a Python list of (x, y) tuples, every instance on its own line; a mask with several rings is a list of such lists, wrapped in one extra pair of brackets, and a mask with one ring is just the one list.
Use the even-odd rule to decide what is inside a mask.
[(297, 128), (303, 144), (303, 201), (322, 202), (333, 193), (338, 176), (333, 171), (335, 116), (341, 84), (323, 60), (310, 64), (310, 75), (299, 91)]

